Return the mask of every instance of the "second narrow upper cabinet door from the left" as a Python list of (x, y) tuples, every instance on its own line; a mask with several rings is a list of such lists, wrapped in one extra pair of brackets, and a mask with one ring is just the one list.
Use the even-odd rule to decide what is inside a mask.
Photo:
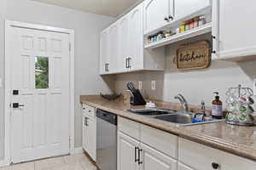
[(109, 65), (108, 72), (118, 72), (119, 59), (119, 28), (114, 24), (109, 28)]

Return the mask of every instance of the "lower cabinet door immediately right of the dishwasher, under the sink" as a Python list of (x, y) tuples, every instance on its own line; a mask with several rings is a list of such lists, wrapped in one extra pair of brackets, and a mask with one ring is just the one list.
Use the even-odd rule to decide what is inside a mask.
[(138, 146), (139, 142), (136, 139), (118, 133), (118, 170), (138, 170), (136, 162)]

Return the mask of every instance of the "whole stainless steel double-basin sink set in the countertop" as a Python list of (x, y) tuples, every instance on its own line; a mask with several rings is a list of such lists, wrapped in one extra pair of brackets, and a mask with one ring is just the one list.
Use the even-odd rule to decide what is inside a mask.
[(204, 117), (204, 119), (201, 117), (195, 119), (195, 113), (166, 109), (133, 109), (128, 110), (128, 112), (142, 116), (150, 116), (161, 121), (171, 122), (177, 127), (223, 121), (212, 117)]

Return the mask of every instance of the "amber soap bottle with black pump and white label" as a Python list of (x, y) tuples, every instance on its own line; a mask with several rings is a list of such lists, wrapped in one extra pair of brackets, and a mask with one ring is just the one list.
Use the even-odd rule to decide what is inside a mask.
[(222, 101), (219, 100), (218, 92), (214, 92), (215, 99), (212, 101), (212, 118), (222, 119)]

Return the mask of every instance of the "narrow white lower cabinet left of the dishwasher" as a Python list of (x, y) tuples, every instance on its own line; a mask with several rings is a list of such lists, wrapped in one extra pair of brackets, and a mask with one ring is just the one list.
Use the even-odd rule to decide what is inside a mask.
[(96, 161), (96, 109), (83, 105), (83, 149)]

